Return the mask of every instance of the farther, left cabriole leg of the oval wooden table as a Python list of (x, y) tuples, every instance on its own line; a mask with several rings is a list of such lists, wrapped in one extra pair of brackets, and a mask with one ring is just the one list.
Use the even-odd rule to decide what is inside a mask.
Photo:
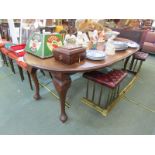
[(38, 82), (38, 78), (37, 78), (37, 69), (33, 68), (33, 67), (28, 67), (28, 72), (30, 73), (34, 84), (35, 84), (35, 94), (33, 96), (33, 98), (35, 100), (39, 100), (41, 98), (40, 94), (39, 94), (39, 82)]

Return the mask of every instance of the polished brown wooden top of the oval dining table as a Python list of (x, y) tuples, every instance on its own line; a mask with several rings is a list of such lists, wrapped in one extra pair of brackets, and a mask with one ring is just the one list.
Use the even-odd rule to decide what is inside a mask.
[(58, 71), (65, 73), (86, 72), (110, 66), (122, 59), (127, 58), (138, 50), (139, 48), (128, 48), (124, 51), (116, 51), (115, 55), (107, 55), (104, 60), (94, 61), (85, 59), (80, 63), (75, 63), (72, 65), (63, 64), (55, 60), (54, 57), (41, 59), (29, 53), (24, 56), (24, 60), (28, 65), (34, 68), (47, 71)]

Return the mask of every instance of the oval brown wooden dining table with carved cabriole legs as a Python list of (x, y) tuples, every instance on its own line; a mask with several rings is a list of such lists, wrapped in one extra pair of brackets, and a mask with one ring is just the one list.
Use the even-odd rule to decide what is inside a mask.
[(60, 120), (62, 122), (65, 122), (68, 118), (65, 112), (65, 100), (67, 91), (71, 85), (70, 75), (78, 72), (88, 72), (98, 70), (110, 66), (126, 58), (127, 58), (126, 60), (128, 60), (132, 54), (138, 51), (138, 49), (139, 48), (128, 48), (127, 50), (124, 51), (116, 51), (115, 55), (108, 55), (104, 60), (93, 61), (85, 59), (80, 63), (75, 63), (72, 65), (63, 64), (55, 60), (54, 57), (41, 59), (36, 56), (33, 56), (32, 54), (27, 53), (24, 56), (24, 60), (29, 65), (28, 71), (35, 84), (34, 98), (36, 100), (40, 99), (39, 82), (36, 75), (37, 69), (42, 69), (51, 72), (55, 89), (57, 90), (60, 97), (60, 107), (61, 107)]

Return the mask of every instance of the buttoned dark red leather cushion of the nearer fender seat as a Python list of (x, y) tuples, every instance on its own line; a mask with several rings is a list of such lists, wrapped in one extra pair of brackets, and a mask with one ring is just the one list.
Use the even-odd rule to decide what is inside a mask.
[(92, 71), (84, 73), (83, 76), (109, 88), (115, 88), (127, 76), (127, 72), (122, 70), (113, 70), (104, 74), (99, 71)]

